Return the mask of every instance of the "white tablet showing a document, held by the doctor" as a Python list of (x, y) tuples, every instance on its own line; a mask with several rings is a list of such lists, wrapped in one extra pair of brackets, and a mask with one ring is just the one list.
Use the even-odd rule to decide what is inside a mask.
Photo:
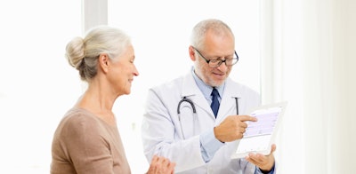
[(257, 118), (257, 122), (247, 122), (244, 137), (239, 139), (237, 149), (231, 158), (244, 158), (249, 153), (270, 154), (286, 107), (287, 101), (284, 101), (256, 107), (249, 112), (249, 115)]

